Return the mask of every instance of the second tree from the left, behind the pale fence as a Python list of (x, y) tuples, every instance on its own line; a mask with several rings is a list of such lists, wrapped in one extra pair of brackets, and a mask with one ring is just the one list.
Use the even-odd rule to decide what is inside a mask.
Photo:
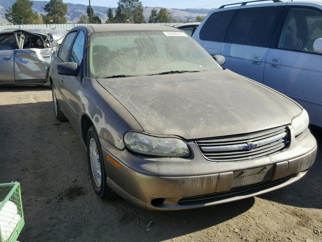
[(44, 7), (47, 15), (42, 15), (44, 23), (50, 24), (65, 24), (66, 23), (66, 13), (67, 5), (62, 2), (62, 0), (50, 0), (48, 4)]

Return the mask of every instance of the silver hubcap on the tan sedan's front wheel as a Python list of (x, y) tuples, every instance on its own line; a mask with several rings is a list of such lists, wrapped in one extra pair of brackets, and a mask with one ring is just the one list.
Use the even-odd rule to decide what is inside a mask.
[(95, 184), (96, 186), (101, 187), (101, 160), (96, 141), (93, 138), (90, 140), (90, 161)]

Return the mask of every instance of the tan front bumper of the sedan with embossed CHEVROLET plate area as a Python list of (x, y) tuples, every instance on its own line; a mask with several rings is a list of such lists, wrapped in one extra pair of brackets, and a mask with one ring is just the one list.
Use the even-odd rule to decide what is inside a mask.
[[(300, 139), (292, 138), (290, 146), (285, 151), (247, 162), (210, 162), (204, 158), (199, 162), (196, 158), (202, 159), (202, 157), (198, 156), (195, 151), (194, 162), (199, 162), (201, 166), (205, 162), (210, 163), (217, 172), (211, 172), (208, 169), (211, 173), (178, 176), (162, 174), (164, 170), (162, 166), (167, 164), (160, 162), (159, 159), (157, 161), (144, 159), (145, 162), (140, 163), (139, 167), (130, 167), (128, 163), (124, 162), (126, 157), (131, 158), (131, 156), (124, 155), (124, 152), (129, 153), (127, 150), (120, 151), (112, 146), (108, 149), (103, 148), (109, 146), (103, 140), (101, 140), (101, 144), (103, 143), (103, 156), (112, 157), (121, 164), (119, 168), (105, 159), (108, 186), (126, 200), (143, 208), (178, 210), (253, 197), (294, 183), (303, 177), (313, 164), (317, 147), (314, 137), (308, 130), (305, 136)], [(152, 165), (160, 167), (160, 172), (151, 174), (149, 170), (151, 162)], [(171, 161), (166, 159), (164, 162)], [(174, 162), (180, 163), (176, 159)], [(169, 164), (173, 163), (168, 163), (168, 166)], [(270, 167), (269, 180), (259, 183), (260, 176), (255, 175), (247, 179), (245, 186), (235, 186), (236, 172), (247, 169), (253, 171), (254, 169), (254, 172), (258, 174), (256, 169), (260, 171), (263, 167)], [(201, 169), (199, 169), (200, 171)], [(178, 174), (180, 173), (182, 171), (178, 170)]]

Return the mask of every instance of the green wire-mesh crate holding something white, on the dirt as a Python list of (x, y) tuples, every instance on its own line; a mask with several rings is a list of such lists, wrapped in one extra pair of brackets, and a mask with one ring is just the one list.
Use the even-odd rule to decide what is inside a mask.
[(20, 184), (0, 184), (0, 242), (15, 242), (24, 225)]

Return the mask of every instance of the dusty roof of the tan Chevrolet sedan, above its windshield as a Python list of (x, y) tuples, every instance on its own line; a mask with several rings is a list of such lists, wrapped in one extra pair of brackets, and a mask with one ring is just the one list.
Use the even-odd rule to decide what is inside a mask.
[(77, 26), (86, 28), (89, 32), (117, 32), (117, 31), (181, 31), (174, 27), (154, 24), (90, 24)]

